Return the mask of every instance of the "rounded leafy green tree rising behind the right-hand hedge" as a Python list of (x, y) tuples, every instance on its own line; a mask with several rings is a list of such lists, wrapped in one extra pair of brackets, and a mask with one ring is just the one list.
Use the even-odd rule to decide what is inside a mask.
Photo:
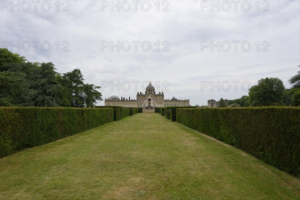
[(251, 106), (282, 105), (284, 85), (277, 77), (266, 77), (258, 80), (257, 85), (249, 88)]

